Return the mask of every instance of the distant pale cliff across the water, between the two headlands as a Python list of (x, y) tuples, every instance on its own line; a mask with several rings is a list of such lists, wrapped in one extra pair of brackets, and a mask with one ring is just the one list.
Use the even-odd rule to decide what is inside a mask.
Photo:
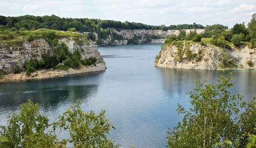
[[(184, 29), (188, 34), (194, 29)], [(197, 29), (196, 32), (201, 34), (204, 32), (204, 29)], [(97, 33), (83, 33), (83, 34), (93, 34), (95, 40), (98, 41)], [(114, 34), (114, 36), (113, 36)], [(118, 39), (115, 35), (119, 36)], [(147, 44), (147, 43), (164, 43), (165, 39), (170, 35), (179, 35), (179, 30), (145, 30), (145, 29), (110, 29), (110, 35), (105, 39), (102, 38), (100, 42), (97, 42), (98, 45), (117, 45), (117, 44)], [(88, 36), (87, 36), (88, 37)], [(96, 43), (96, 41), (95, 41)]]

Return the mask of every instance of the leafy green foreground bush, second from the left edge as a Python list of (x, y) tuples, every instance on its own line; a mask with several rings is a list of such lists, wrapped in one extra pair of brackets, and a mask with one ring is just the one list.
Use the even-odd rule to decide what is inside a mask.
[(72, 105), (58, 120), (53, 123), (54, 128), (68, 131), (70, 139), (66, 141), (74, 148), (117, 148), (107, 138), (110, 129), (115, 129), (112, 123), (105, 118), (105, 111), (96, 115), (93, 111), (88, 113), (81, 109), (81, 104)]

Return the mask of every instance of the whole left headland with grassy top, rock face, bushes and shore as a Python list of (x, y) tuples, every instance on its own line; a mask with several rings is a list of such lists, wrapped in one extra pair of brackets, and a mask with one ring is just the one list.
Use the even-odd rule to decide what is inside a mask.
[[(79, 33), (40, 29), (11, 32), (9, 36), (12, 39), (0, 40), (0, 70), (2, 74), (9, 73), (2, 76), (2, 80), (47, 78), (106, 69), (97, 45)], [(41, 75), (37, 73), (42, 70)]]

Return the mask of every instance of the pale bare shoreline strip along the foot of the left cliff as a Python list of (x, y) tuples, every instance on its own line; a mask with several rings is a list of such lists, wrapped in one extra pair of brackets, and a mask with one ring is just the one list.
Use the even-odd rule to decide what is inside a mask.
[(81, 66), (79, 69), (69, 68), (68, 71), (60, 70), (40, 70), (34, 73), (31, 73), (30, 76), (26, 76), (26, 72), (21, 72), (20, 74), (6, 74), (0, 77), (0, 82), (18, 82), (26, 80), (37, 80), (37, 79), (48, 79), (56, 77), (65, 77), (66, 75), (72, 74), (83, 74), (89, 72), (99, 72), (105, 71), (106, 66), (100, 64), (97, 66)]

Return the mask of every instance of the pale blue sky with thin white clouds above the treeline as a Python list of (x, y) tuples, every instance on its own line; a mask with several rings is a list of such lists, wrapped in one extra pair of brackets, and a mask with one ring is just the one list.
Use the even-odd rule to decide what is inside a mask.
[(56, 15), (147, 25), (221, 24), (232, 28), (250, 22), (256, 0), (0, 0), (0, 15)]

